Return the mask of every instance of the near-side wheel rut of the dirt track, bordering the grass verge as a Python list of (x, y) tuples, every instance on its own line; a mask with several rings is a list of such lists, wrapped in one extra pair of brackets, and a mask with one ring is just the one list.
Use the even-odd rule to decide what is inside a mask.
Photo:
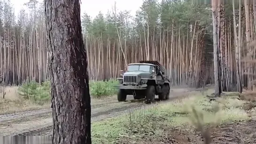
[[(175, 96), (171, 96), (173, 94), (171, 94), (170, 96), (170, 99), (168, 100), (165, 100), (165, 101), (159, 101), (158, 103), (159, 104), (164, 104), (164, 103), (168, 103), (172, 100), (176, 100), (176, 99), (183, 99), (185, 97), (188, 96), (188, 94), (192, 92), (192, 91), (184, 91), (184, 92), (178, 92), (178, 93), (173, 93)], [(127, 104), (126, 102), (124, 102), (124, 104)], [(111, 118), (111, 117), (116, 117), (120, 114), (124, 114), (124, 113), (129, 113), (129, 111), (133, 111), (133, 110), (136, 110), (136, 109), (147, 109), (149, 107), (152, 107), (152, 106), (157, 106), (155, 104), (149, 104), (149, 105), (146, 105), (144, 103), (138, 103), (138, 104), (134, 104), (134, 105), (127, 105), (127, 106), (123, 106), (123, 107), (118, 107), (118, 108), (113, 108), (113, 109), (109, 109), (107, 111), (102, 111), (102, 112), (98, 112), (98, 113), (94, 113), (91, 115), (91, 118), (92, 118), (92, 122), (93, 121), (101, 121), (103, 119), (106, 119), (106, 118)], [(52, 118), (51, 118), (52, 120)], [(33, 129), (33, 130), (27, 130), (25, 132), (22, 132), (22, 133), (16, 133), (16, 134), (11, 134), (11, 135), (8, 135), (8, 136), (51, 136), (51, 133), (52, 133), (52, 129), (53, 129), (53, 125), (48, 125), (48, 126), (45, 126), (45, 127), (41, 127), (41, 128), (38, 128), (38, 129)]]

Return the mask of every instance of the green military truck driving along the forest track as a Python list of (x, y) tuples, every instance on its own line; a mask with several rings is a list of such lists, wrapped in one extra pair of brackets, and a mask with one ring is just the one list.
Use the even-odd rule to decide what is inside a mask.
[(160, 100), (169, 99), (170, 80), (165, 75), (165, 68), (158, 61), (140, 61), (131, 63), (119, 81), (118, 101), (125, 101), (127, 95), (134, 99), (144, 99), (145, 103), (154, 103), (155, 95)]

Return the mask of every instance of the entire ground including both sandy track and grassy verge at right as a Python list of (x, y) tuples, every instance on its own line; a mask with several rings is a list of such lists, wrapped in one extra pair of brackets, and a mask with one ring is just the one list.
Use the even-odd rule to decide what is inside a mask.
[[(93, 144), (201, 144), (198, 121), (209, 128), (213, 144), (255, 144), (256, 120), (245, 111), (248, 102), (236, 93), (210, 101), (206, 95), (212, 92), (174, 88), (170, 100), (151, 105), (132, 97), (121, 103), (116, 97), (92, 99)], [(51, 108), (0, 114), (0, 129), (0, 136), (50, 136)]]

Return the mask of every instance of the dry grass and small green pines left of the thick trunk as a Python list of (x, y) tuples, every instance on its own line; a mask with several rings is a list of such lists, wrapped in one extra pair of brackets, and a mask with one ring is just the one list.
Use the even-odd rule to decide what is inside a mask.
[(8, 87), (5, 99), (0, 99), (0, 114), (50, 107), (50, 83), (25, 82), (18, 88)]

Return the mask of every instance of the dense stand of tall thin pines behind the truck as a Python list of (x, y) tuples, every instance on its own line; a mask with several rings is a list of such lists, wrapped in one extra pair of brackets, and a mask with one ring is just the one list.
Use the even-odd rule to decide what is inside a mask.
[[(223, 91), (237, 83), (247, 86), (254, 65), (245, 67), (242, 58), (251, 54), (247, 58), (253, 59), (246, 42), (256, 38), (256, 2), (248, 1), (145, 0), (135, 16), (117, 11), (117, 3), (93, 19), (81, 12), (89, 78), (116, 78), (129, 63), (155, 60), (167, 69), (172, 86), (218, 82)], [(9, 0), (0, 2), (0, 77), (6, 84), (48, 79), (47, 59), (53, 53), (47, 53), (44, 4), (25, 5), (30, 12), (21, 10), (16, 17)]]

